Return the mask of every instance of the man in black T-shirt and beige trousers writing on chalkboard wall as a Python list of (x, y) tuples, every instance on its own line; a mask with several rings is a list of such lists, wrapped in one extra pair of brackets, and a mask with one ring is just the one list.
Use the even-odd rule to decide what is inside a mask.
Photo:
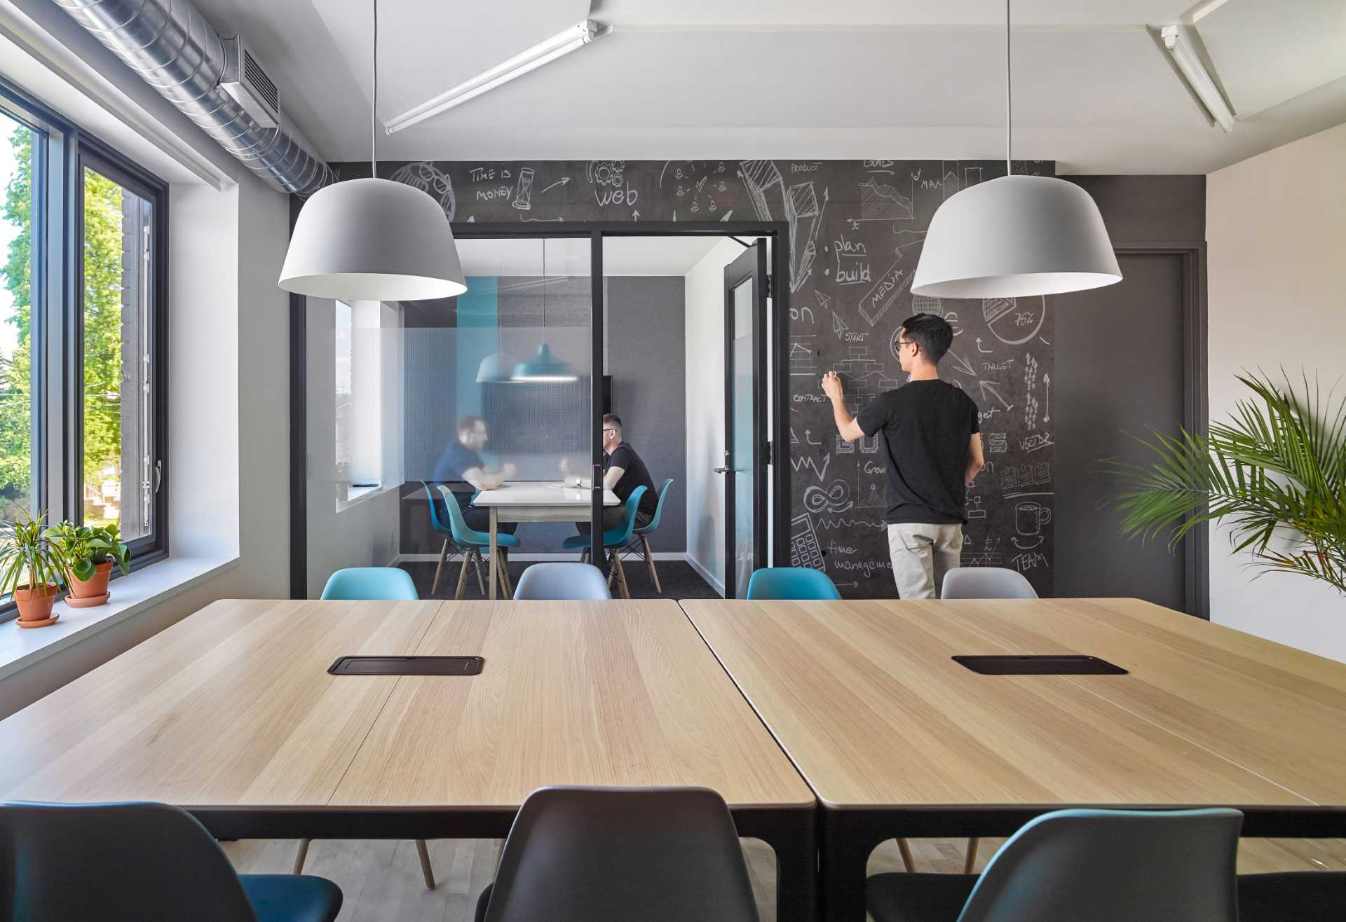
[(938, 598), (944, 575), (958, 565), (966, 486), (985, 467), (977, 405), (940, 380), (940, 359), (953, 343), (944, 318), (917, 314), (898, 330), (898, 359), (907, 384), (870, 401), (856, 419), (841, 378), (822, 376), (837, 432), (847, 441), (883, 433), (888, 456), (888, 553), (898, 596)]

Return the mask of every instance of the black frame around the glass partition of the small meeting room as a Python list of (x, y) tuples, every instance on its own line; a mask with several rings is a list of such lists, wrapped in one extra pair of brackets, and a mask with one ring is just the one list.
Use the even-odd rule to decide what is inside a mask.
[[(291, 230), (303, 201), (291, 197)], [(786, 373), (786, 343), (790, 327), (790, 225), (785, 221), (642, 221), (639, 223), (610, 221), (559, 221), (546, 223), (506, 223), (506, 222), (454, 222), (454, 236), (460, 240), (481, 237), (588, 237), (591, 246), (591, 277), (603, 279), (603, 238), (604, 237), (770, 237), (771, 272), (770, 279), (770, 328), (771, 328), (771, 392), (778, 396), (781, 406), (771, 420), (771, 476), (773, 476), (773, 563), (781, 565), (786, 560), (786, 522), (782, 503), (789, 503), (790, 479), (785, 455), (789, 450), (789, 377)], [(308, 299), (303, 295), (289, 296), (289, 595), (304, 599), (308, 595), (308, 415), (306, 390), (308, 384), (307, 316)], [(590, 324), (594, 330), (594, 380), (600, 381), (603, 367), (603, 285), (594, 285), (592, 314)], [(759, 318), (766, 328), (767, 318)], [(600, 456), (602, 446), (602, 396), (595, 388), (592, 406), (595, 458)], [(781, 412), (783, 411), (783, 412)], [(595, 493), (595, 497), (599, 494)], [(595, 517), (602, 516), (600, 498), (595, 498)], [(602, 534), (602, 525), (594, 526), (595, 538)], [(598, 560), (600, 557), (595, 557)]]

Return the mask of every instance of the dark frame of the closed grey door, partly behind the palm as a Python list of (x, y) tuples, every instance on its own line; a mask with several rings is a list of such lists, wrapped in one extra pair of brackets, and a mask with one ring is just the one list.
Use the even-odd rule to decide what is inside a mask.
[[(1207, 401), (1206, 338), (1206, 241), (1128, 241), (1113, 246), (1117, 256), (1182, 257), (1182, 331), (1183, 331), (1183, 428), (1193, 435), (1206, 435), (1210, 405)], [(1186, 607), (1189, 615), (1210, 620), (1210, 533), (1195, 528), (1183, 538)]]

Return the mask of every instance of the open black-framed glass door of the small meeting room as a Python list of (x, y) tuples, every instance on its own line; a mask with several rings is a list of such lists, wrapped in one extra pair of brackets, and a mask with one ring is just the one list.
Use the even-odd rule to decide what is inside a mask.
[(724, 595), (766, 559), (766, 241), (724, 269)]

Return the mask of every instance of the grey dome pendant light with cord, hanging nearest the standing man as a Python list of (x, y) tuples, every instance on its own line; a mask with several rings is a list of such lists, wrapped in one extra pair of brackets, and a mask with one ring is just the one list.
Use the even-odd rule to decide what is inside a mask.
[(1098, 206), (1074, 183), (1010, 166), (1010, 0), (1005, 0), (1005, 176), (970, 186), (930, 219), (911, 293), (1028, 297), (1102, 288), (1121, 269)]

